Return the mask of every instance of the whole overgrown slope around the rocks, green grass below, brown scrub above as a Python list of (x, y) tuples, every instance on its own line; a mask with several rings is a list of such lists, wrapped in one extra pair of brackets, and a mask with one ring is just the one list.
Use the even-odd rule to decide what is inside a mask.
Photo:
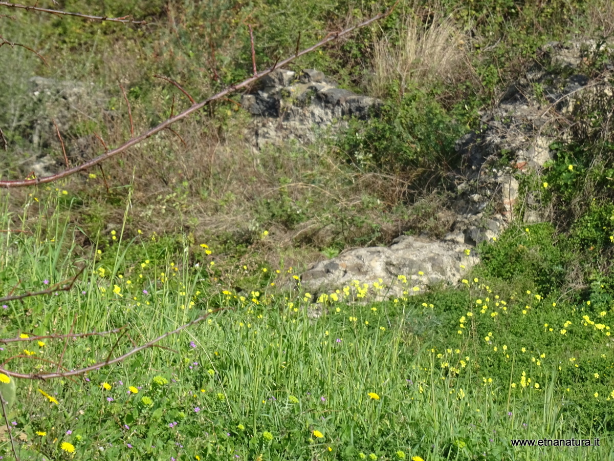
[[(292, 52), (298, 28), (305, 30), (306, 44), (377, 9), (344, 2), (335, 14), (327, 4), (308, 2), (255, 2), (235, 9), (223, 2), (199, 5), (128, 5), (135, 15), (157, 18), (142, 30), (44, 16), (33, 21), (26, 19), (33, 17), (30, 13), (17, 12), (17, 21), (6, 22), (3, 35), (43, 50), (52, 66), (42, 67), (23, 50), (0, 59), (4, 66), (17, 60), (26, 76), (95, 82), (112, 95), (107, 112), (92, 107), (96, 123), (77, 120), (65, 136), (70, 141), (96, 131), (114, 146), (128, 136), (130, 126), (118, 80), (128, 89), (139, 131), (168, 115), (173, 95), (175, 104), (185, 104), (152, 74), (171, 76), (200, 98), (249, 72), (242, 23), (247, 18), (257, 26), (258, 60), (266, 65), (276, 53)], [(108, 193), (96, 171), (95, 178), (73, 178), (57, 184), (57, 190), (5, 195), (2, 229), (33, 234), (7, 233), (2, 240), (3, 293), (14, 286), (53, 286), (82, 264), (87, 274), (66, 293), (8, 303), (5, 337), (128, 325), (130, 337), (144, 342), (198, 312), (234, 308), (166, 339), (163, 345), (171, 350), (149, 350), (90, 373), (88, 380), (31, 386), (18, 381), (10, 416), (27, 436), (23, 457), (38, 459), (37, 452), (48, 459), (68, 457), (60, 454), (66, 441), (82, 459), (534, 459), (535, 448), (515, 449), (508, 439), (572, 436), (600, 436), (602, 447), (545, 449), (540, 458), (606, 459), (611, 454), (608, 318), (613, 313), (606, 262), (611, 229), (602, 229), (612, 214), (607, 205), (594, 205), (593, 213), (577, 216), (575, 227), (559, 229), (569, 232), (572, 246), (565, 248), (553, 246), (558, 234), (547, 227), (511, 229), (500, 246), (483, 248), (486, 264), (475, 282), (472, 276), (459, 290), (367, 306), (328, 301), (330, 312), (311, 321), (303, 307), (313, 299), (276, 289), (321, 252), (387, 243), (403, 230), (442, 232), (437, 219), (441, 188), (414, 192), (422, 177), (445, 176), (438, 161), (450, 155), (432, 145), (437, 133), (428, 131), (422, 114), (444, 130), (446, 124), (475, 127), (476, 110), (496, 100), (539, 44), (612, 25), (607, 2), (584, 7), (558, 1), (523, 9), (505, 1), (472, 5), (446, 2), (431, 6), (429, 13), (428, 6), (401, 4), (373, 31), (297, 63), (322, 68), (348, 87), (387, 96), (393, 120), (401, 114), (412, 125), (427, 127), (411, 132), (425, 149), (426, 162), (417, 163), (412, 151), (398, 151), (398, 144), (386, 145), (388, 139), (405, 142), (398, 131), (373, 144), (385, 154), (381, 161), (397, 165), (392, 170), (378, 159), (343, 162), (353, 152), (344, 154), (347, 141), (336, 148), (297, 146), (254, 154), (240, 140), (246, 117), (233, 111), (233, 104), (221, 104), (207, 114), (211, 117), (178, 127), (185, 146), (171, 134), (160, 136), (105, 165)], [(87, 11), (78, 3), (65, 7)], [(125, 14), (123, 4), (107, 7), (105, 14)], [(385, 33), (395, 42), (411, 29), (410, 12), (414, 20), (429, 22), (433, 11), (440, 18), (453, 14), (448, 26), (464, 33), (462, 43), (456, 40), (453, 46), (465, 50), (470, 65), (459, 68), (462, 63), (448, 61), (443, 71), (436, 65), (427, 71), (421, 66), (420, 72), (410, 65), (405, 81), (387, 81), (386, 74), (379, 81), (361, 77), (363, 69), (374, 66), (371, 50), (381, 44), (378, 37)], [(28, 20), (36, 28), (23, 26)], [(210, 78), (212, 61), (203, 50), (211, 42), (222, 82)], [(395, 53), (402, 51), (386, 54), (390, 48), (379, 49), (384, 51), (378, 62), (387, 73), (386, 63), (397, 61)], [(443, 62), (441, 56), (430, 59)], [(446, 69), (461, 81), (447, 80)], [(2, 98), (11, 102), (5, 105), (12, 108), (13, 121), (5, 119), (2, 126), (9, 127), (10, 155), (18, 157), (31, 149), (31, 112), (25, 87), (17, 84), (25, 79), (17, 73), (11, 78), (15, 94)], [(112, 117), (105, 116), (109, 111)], [(400, 125), (403, 133), (406, 128)], [(49, 150), (58, 148), (52, 144)], [(577, 160), (588, 157), (563, 153), (568, 157), (561, 155), (562, 172), (569, 158), (581, 164)], [(14, 164), (7, 165), (11, 174)], [(561, 191), (573, 181), (580, 181), (573, 187), (584, 189), (578, 184), (590, 179), (589, 168), (590, 162), (573, 178), (553, 168), (548, 181)], [(599, 191), (585, 195), (608, 199), (607, 189)], [(591, 210), (581, 197), (555, 195), (553, 203), (561, 208), (572, 203), (575, 213)], [(206, 254), (201, 243), (213, 253)], [(599, 254), (591, 253), (594, 248)], [(586, 269), (577, 272), (578, 266)], [(560, 283), (551, 277), (559, 267)], [(580, 281), (573, 285), (570, 280), (578, 274)], [(63, 366), (76, 368), (104, 360), (111, 350), (130, 348), (125, 336), (118, 345), (115, 341), (110, 336), (76, 341), (66, 349)], [(57, 361), (61, 341), (44, 343), (11, 345), (4, 357), (35, 352), (33, 357)], [(33, 371), (32, 360), (11, 364)], [(166, 383), (156, 384), (155, 376)], [(102, 390), (103, 382), (111, 383), (111, 390)], [(139, 393), (126, 393), (130, 385), (140, 387)], [(47, 404), (37, 386), (55, 396), (58, 406)], [(150, 421), (157, 424), (147, 427)], [(2, 449), (9, 453), (7, 443)]]

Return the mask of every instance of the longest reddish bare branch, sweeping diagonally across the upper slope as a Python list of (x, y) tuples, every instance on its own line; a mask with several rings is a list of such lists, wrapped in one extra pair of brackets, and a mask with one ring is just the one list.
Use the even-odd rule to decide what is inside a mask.
[[(397, 1), (398, 3), (398, 1)], [(397, 3), (394, 4), (394, 6), (392, 6), (391, 9), (387, 10), (384, 13), (380, 13), (378, 15), (375, 15), (374, 17), (363, 21), (362, 23), (359, 23), (355, 26), (349, 27), (346, 30), (343, 30), (341, 32), (338, 33), (334, 33), (333, 36), (327, 36), (325, 37), (325, 39), (322, 39), (321, 41), (317, 42), (315, 45), (306, 48), (304, 50), (302, 50), (301, 52), (293, 55), (292, 57), (286, 58), (282, 61), (280, 61), (278, 63), (279, 66), (285, 66), (286, 64), (290, 63), (291, 61), (295, 60), (298, 57), (301, 57), (302, 55), (305, 55), (306, 53), (310, 53), (313, 50), (318, 49), (319, 47), (321, 47), (322, 45), (327, 44), (330, 41), (333, 41), (335, 39), (338, 39), (339, 37), (342, 37), (346, 34), (351, 33), (352, 31), (359, 29), (361, 27), (367, 26), (381, 18), (386, 17), (387, 15), (389, 15), (392, 12), (392, 9), (394, 9), (394, 7), (397, 5)], [(98, 165), (101, 162), (104, 162), (104, 160), (110, 159), (113, 156), (116, 156), (117, 154), (120, 154), (121, 152), (125, 151), (128, 148), (131, 148), (132, 146), (135, 146), (136, 144), (142, 143), (142, 141), (150, 138), (151, 136), (155, 135), (156, 133), (161, 132), (162, 130), (164, 130), (165, 128), (173, 125), (174, 123), (178, 122), (179, 120), (183, 120), (185, 119), (185, 117), (188, 117), (190, 115), (192, 115), (194, 112), (196, 111), (200, 111), (200, 109), (204, 108), (205, 106), (208, 106), (209, 104), (211, 104), (213, 101), (219, 100), (220, 98), (223, 98), (227, 95), (229, 95), (230, 93), (234, 93), (239, 89), (245, 88), (249, 85), (251, 85), (252, 83), (254, 83), (255, 81), (257, 81), (258, 79), (262, 78), (263, 76), (270, 74), (271, 72), (273, 72), (274, 68), (268, 68), (262, 72), (259, 72), (257, 74), (255, 74), (252, 77), (249, 77), (248, 79), (244, 80), (243, 82), (240, 82), (238, 84), (234, 84), (234, 85), (230, 85), (230, 87), (227, 87), (226, 89), (223, 89), (222, 91), (220, 91), (219, 93), (216, 93), (215, 95), (213, 95), (212, 97), (207, 98), (206, 100), (202, 101), (201, 103), (198, 104), (193, 104), (192, 106), (190, 106), (189, 108), (185, 109), (185, 111), (177, 114), (174, 117), (169, 117), (168, 119), (166, 119), (164, 122), (161, 122), (161, 124), (157, 125), (156, 127), (153, 127), (151, 130), (143, 133), (140, 136), (137, 136), (136, 138), (132, 138), (129, 141), (126, 141), (125, 143), (123, 143), (121, 146), (119, 146), (118, 148), (112, 149), (111, 151), (105, 152), (104, 154), (96, 157), (95, 159), (91, 159), (88, 162), (85, 162), (84, 164), (78, 165), (76, 167), (72, 167), (72, 168), (68, 168), (67, 170), (61, 171), (60, 173), (57, 173), (55, 175), (50, 175), (50, 176), (44, 176), (42, 178), (34, 178), (34, 179), (25, 179), (25, 180), (12, 180), (12, 181), (0, 181), (0, 187), (26, 187), (26, 186), (34, 186), (35, 184), (47, 184), (47, 183), (52, 183), (53, 181), (57, 181), (58, 179), (62, 179), (62, 178), (66, 178), (67, 176), (70, 175), (74, 175), (74, 173), (77, 173), (78, 171), (84, 171), (87, 170), (88, 168), (93, 167), (93, 165)]]

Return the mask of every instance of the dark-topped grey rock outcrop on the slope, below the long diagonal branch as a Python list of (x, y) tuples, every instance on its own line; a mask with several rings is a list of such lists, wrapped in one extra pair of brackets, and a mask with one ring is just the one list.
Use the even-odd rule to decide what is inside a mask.
[(254, 116), (246, 139), (257, 149), (289, 140), (313, 143), (319, 136), (346, 127), (349, 117), (365, 119), (380, 104), (375, 98), (338, 88), (315, 69), (298, 74), (276, 69), (241, 100), (243, 108)]

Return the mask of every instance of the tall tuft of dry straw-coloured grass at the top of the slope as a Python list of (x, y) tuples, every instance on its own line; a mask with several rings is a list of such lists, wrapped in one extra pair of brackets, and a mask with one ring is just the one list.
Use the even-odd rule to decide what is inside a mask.
[(465, 50), (467, 37), (456, 29), (451, 18), (437, 12), (429, 17), (425, 23), (408, 15), (400, 28), (398, 44), (385, 35), (376, 39), (370, 94), (383, 97), (395, 81), (403, 93), (411, 84), (428, 82), (427, 87), (431, 87), (433, 79), (454, 84), (473, 73)]

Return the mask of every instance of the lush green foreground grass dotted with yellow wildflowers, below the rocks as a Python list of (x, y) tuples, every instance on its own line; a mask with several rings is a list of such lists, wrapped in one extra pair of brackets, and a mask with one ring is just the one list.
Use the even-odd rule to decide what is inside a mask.
[[(159, 347), (85, 376), (14, 379), (8, 416), (21, 459), (71, 458), (62, 443), (74, 446), (76, 459), (612, 454), (608, 305), (555, 306), (553, 299), (472, 278), (457, 289), (388, 302), (348, 303), (343, 290), (329, 293), (314, 320), (308, 315), (314, 296), (279, 289), (292, 270), (258, 268), (246, 274), (254, 286), (235, 293), (220, 284), (216, 248), (201, 246), (207, 242), (156, 235), (128, 241), (120, 227), (100, 253), (91, 246), (80, 260), (78, 230), (55, 219), (63, 194), (48, 195), (40, 202), (28, 197), (21, 216), (24, 222), (37, 216), (34, 235), (3, 235), (2, 292), (53, 287), (82, 264), (86, 269), (69, 291), (9, 302), (0, 311), (4, 338), (30, 340), (4, 345), (7, 369), (55, 371), (60, 357), (64, 369), (82, 368), (211, 314)], [(2, 228), (9, 229), (14, 216), (3, 216)], [(120, 327), (121, 334), (68, 342), (36, 338)], [(510, 443), (596, 437), (600, 447)], [(11, 455), (8, 441), (0, 453)]]

